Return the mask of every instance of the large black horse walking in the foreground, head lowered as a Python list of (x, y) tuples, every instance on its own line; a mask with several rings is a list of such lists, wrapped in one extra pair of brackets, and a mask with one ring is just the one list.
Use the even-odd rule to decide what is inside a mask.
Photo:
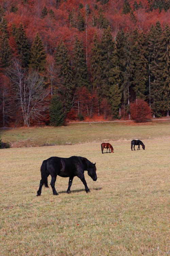
[(88, 171), (88, 175), (94, 180), (97, 180), (96, 175), (96, 163), (90, 162), (87, 158), (81, 156), (71, 156), (69, 158), (62, 157), (50, 157), (44, 160), (41, 165), (41, 180), (39, 184), (39, 189), (37, 191), (37, 196), (41, 195), (42, 186), (48, 186), (48, 176), (51, 175), (51, 187), (53, 190), (53, 195), (58, 195), (55, 190), (55, 181), (57, 175), (61, 177), (69, 177), (67, 193), (70, 193), (70, 187), (74, 176), (78, 176), (83, 182), (86, 192), (90, 192), (87, 187), (87, 183), (84, 178), (84, 171)]

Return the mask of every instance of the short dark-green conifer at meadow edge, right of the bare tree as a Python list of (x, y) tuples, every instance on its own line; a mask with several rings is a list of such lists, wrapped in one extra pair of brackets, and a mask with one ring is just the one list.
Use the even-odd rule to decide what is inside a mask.
[(54, 94), (52, 96), (50, 105), (50, 125), (52, 126), (62, 126), (64, 122), (64, 113), (62, 102), (60, 101), (58, 95)]

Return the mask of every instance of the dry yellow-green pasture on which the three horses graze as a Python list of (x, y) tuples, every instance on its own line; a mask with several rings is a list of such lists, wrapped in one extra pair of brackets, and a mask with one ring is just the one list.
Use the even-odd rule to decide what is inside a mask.
[[(63, 145), (0, 150), (0, 255), (170, 255), (169, 124), (75, 126), (57, 129)], [(5, 130), (1, 138), (34, 132), (38, 145), (54, 132), (39, 129)], [(131, 151), (135, 138), (146, 150)], [(101, 154), (106, 139), (113, 154)], [(42, 161), (71, 155), (96, 162), (96, 182), (85, 172), (90, 193), (75, 177), (69, 195), (68, 178), (57, 177), (58, 196), (43, 187), (36, 197)]]

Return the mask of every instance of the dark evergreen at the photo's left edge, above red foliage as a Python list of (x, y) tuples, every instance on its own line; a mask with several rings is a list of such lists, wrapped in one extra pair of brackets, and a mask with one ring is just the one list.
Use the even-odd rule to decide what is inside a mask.
[(11, 64), (12, 52), (6, 34), (3, 33), (0, 37), (0, 67), (6, 68)]

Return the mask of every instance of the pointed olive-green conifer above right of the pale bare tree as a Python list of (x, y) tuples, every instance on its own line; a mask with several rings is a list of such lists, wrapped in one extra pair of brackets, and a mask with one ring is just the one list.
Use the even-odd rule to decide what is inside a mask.
[(43, 72), (46, 64), (46, 53), (43, 42), (40, 39), (39, 33), (37, 32), (31, 47), (31, 60), (30, 68)]

